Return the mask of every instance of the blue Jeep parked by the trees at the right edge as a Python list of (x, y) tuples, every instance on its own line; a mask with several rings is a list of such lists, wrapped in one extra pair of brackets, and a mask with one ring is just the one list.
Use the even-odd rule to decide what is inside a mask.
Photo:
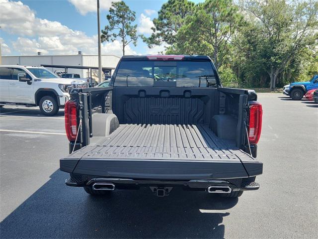
[(294, 82), (284, 86), (283, 93), (293, 100), (301, 100), (307, 91), (318, 88), (318, 75), (307, 82)]

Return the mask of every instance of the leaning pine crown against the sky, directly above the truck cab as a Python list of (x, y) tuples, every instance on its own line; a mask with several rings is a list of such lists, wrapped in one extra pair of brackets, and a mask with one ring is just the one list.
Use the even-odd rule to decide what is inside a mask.
[(162, 4), (158, 18), (154, 18), (155, 27), (150, 37), (142, 36), (150, 48), (167, 43), (170, 47), (177, 43), (177, 34), (185, 18), (193, 13), (195, 4), (189, 0), (168, 0)]

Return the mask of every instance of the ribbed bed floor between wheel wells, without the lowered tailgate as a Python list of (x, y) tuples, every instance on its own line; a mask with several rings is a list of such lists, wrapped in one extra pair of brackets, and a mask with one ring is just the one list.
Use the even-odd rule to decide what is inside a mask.
[(208, 126), (189, 124), (122, 124), (100, 146), (224, 148)]

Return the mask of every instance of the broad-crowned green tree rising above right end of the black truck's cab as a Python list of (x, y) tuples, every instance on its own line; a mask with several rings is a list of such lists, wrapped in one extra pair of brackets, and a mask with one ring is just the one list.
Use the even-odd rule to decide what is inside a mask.
[(191, 46), (191, 53), (209, 54), (218, 69), (229, 57), (233, 33), (243, 23), (243, 17), (233, 0), (206, 0), (199, 3), (193, 15), (178, 34), (178, 47)]

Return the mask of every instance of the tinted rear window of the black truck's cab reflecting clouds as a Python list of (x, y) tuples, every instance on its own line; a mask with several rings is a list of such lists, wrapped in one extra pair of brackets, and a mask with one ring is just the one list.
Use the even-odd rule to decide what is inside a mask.
[(114, 86), (215, 87), (210, 62), (122, 61)]

